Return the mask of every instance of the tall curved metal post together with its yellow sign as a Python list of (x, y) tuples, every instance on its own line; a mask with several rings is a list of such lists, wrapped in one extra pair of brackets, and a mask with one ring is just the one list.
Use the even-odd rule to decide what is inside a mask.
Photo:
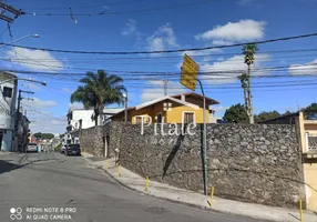
[(200, 65), (187, 54), (184, 54), (184, 60), (182, 64), (181, 84), (195, 91), (197, 82), (200, 83), (203, 103), (204, 103), (204, 132), (203, 132), (203, 150), (204, 150), (204, 194), (207, 195), (208, 178), (207, 178), (207, 127), (206, 127), (206, 99), (203, 84), (198, 80)]

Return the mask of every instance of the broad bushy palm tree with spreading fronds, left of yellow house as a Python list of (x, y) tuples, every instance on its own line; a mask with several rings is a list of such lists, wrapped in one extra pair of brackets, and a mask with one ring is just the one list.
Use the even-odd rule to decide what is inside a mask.
[(98, 70), (96, 73), (86, 72), (86, 77), (80, 82), (83, 85), (78, 87), (71, 94), (71, 102), (82, 102), (85, 109), (93, 108), (95, 125), (102, 124), (105, 105), (124, 102), (122, 91), (125, 91), (125, 88), (121, 84), (121, 77)]

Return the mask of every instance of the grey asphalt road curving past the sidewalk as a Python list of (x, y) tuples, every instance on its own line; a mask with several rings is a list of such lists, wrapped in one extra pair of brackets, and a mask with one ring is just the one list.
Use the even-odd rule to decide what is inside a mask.
[[(12, 208), (16, 211), (10, 212)], [(20, 215), (17, 210), (22, 210)], [(22, 219), (18, 220), (19, 216)], [(72, 222), (258, 221), (142, 195), (122, 188), (102, 171), (90, 168), (81, 157), (0, 153), (0, 221), (12, 219)]]

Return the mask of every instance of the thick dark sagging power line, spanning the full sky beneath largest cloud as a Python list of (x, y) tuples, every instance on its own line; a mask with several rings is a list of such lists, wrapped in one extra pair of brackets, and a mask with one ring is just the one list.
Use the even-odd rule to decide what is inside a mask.
[(316, 37), (317, 32), (309, 33), (309, 34), (300, 34), (300, 36), (293, 36), (293, 37), (284, 37), (277, 39), (268, 39), (263, 41), (253, 41), (253, 42), (244, 42), (244, 43), (235, 43), (229, 46), (216, 46), (216, 47), (204, 47), (204, 48), (187, 48), (187, 49), (176, 49), (176, 50), (160, 50), (160, 51), (80, 51), (80, 50), (63, 50), (63, 49), (48, 49), (48, 48), (38, 48), (38, 47), (23, 47), (19, 44), (11, 44), (0, 42), (0, 44), (6, 44), (9, 47), (17, 47), (22, 49), (31, 49), (31, 50), (42, 50), (42, 51), (50, 51), (50, 52), (60, 52), (60, 53), (78, 53), (78, 54), (155, 54), (155, 53), (174, 53), (174, 52), (185, 52), (185, 51), (203, 51), (203, 50), (211, 50), (211, 49), (224, 49), (224, 48), (234, 48), (234, 47), (242, 47), (245, 44), (264, 44), (264, 43), (272, 43), (277, 41), (288, 41), (294, 39), (304, 39), (309, 37)]

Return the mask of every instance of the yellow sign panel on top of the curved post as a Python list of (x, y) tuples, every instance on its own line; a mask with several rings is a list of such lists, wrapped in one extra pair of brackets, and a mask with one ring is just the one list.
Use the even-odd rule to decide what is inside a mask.
[(182, 64), (181, 84), (195, 91), (200, 65), (187, 54), (184, 56)]

